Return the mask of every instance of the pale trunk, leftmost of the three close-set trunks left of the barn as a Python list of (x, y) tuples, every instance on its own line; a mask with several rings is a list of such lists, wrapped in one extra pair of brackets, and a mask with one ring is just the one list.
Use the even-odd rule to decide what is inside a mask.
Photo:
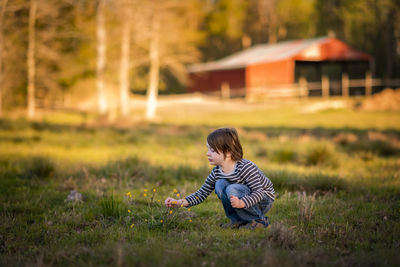
[(104, 69), (106, 64), (106, 30), (104, 26), (104, 0), (99, 0), (97, 7), (97, 98), (100, 114), (107, 112), (106, 89), (104, 86)]

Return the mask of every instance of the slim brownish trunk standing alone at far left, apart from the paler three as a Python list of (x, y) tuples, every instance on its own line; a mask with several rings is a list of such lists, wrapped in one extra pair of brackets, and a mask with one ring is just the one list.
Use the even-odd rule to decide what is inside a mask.
[(35, 117), (35, 22), (36, 0), (31, 0), (29, 8), (28, 41), (28, 118)]

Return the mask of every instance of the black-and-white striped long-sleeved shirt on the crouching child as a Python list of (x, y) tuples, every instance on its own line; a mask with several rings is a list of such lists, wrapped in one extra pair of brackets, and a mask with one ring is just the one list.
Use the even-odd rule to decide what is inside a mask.
[(265, 195), (272, 200), (275, 199), (275, 191), (271, 180), (253, 162), (241, 159), (236, 162), (235, 170), (230, 174), (224, 174), (221, 167), (215, 166), (201, 188), (186, 197), (189, 207), (203, 202), (214, 190), (218, 179), (227, 179), (233, 184), (244, 184), (250, 188), (250, 195), (241, 198), (246, 208), (259, 203)]

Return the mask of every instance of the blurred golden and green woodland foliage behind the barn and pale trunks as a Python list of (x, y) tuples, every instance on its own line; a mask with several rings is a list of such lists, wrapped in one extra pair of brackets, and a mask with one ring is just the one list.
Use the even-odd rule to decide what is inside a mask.
[[(3, 0), (2, 2), (4, 2)], [(38, 105), (75, 106), (95, 94), (96, 8), (98, 1), (38, 2), (36, 97)], [(106, 84), (118, 95), (121, 3), (107, 0)], [(400, 77), (400, 3), (397, 0), (217, 0), (128, 1), (131, 10), (130, 89), (144, 93), (149, 71), (149, 15), (163, 22), (161, 79), (165, 92), (184, 92), (185, 66), (215, 60), (250, 45), (335, 35), (375, 59), (375, 76)], [(11, 0), (2, 23), (4, 106), (25, 106), (30, 1)], [(157, 6), (157, 5), (156, 5)], [(74, 103), (75, 105), (71, 104)]]

